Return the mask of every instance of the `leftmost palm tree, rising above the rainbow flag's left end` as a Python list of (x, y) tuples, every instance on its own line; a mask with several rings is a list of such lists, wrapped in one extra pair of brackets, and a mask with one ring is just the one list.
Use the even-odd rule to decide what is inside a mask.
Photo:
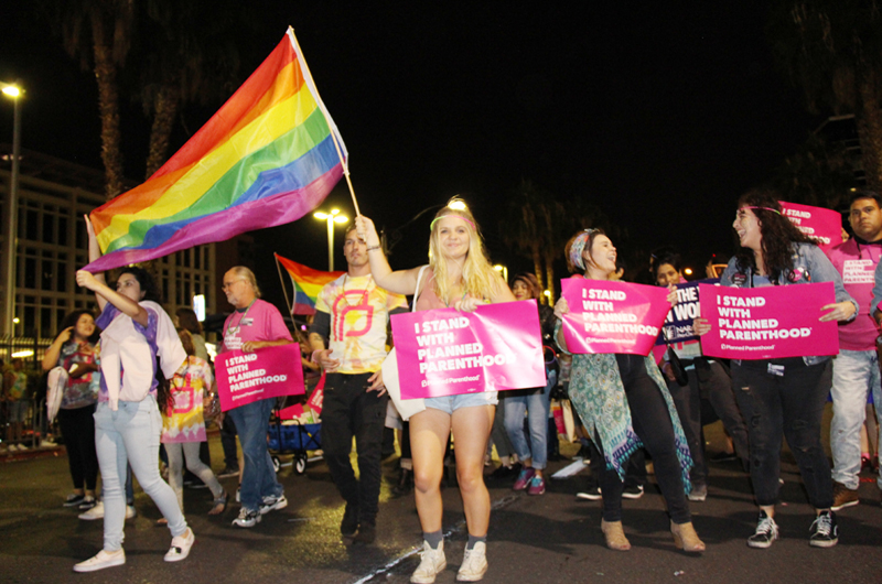
[(95, 72), (105, 195), (110, 199), (122, 192), (123, 183), (117, 77), (130, 48), (135, 1), (42, 0), (41, 8), (61, 34), (67, 53), (79, 60), (84, 71)]

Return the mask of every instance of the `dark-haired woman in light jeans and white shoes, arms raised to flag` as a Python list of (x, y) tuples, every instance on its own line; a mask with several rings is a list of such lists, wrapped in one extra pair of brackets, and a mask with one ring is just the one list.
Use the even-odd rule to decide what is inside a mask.
[[(89, 260), (101, 256), (95, 231), (86, 218)], [(159, 474), (159, 440), (162, 402), (158, 377), (172, 377), (186, 359), (172, 320), (159, 304), (155, 280), (143, 268), (120, 270), (116, 289), (104, 273), (76, 272), (76, 283), (95, 293), (101, 315), (101, 385), (95, 412), (95, 446), (104, 490), (104, 548), (94, 558), (74, 566), (75, 572), (95, 572), (126, 563), (122, 527), (126, 499), (122, 486), (126, 463), (141, 488), (169, 522), (172, 544), (166, 562), (190, 554), (195, 537), (184, 519), (174, 490)]]

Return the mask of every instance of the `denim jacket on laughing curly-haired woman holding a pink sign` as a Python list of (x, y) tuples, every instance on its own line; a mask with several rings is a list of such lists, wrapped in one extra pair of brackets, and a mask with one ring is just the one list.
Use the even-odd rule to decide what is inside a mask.
[[(782, 273), (775, 285), (832, 282), (836, 290), (836, 302), (848, 301), (854, 305), (854, 314), (849, 318), (849, 322), (854, 320), (858, 315), (858, 303), (846, 292), (841, 274), (819, 247), (811, 244), (795, 244), (792, 259), (793, 269)], [(729, 260), (729, 266), (725, 267), (725, 271), (720, 278), (720, 285), (753, 288), (753, 270), (750, 267), (743, 271), (739, 270), (736, 260), (738, 258)], [(829, 358), (828, 355), (806, 356), (803, 357), (803, 360), (806, 365), (815, 365)]]

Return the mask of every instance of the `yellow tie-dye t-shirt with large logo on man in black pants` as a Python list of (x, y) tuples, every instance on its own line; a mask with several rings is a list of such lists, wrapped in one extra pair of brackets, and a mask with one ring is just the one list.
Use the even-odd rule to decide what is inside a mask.
[(343, 274), (325, 284), (315, 310), (331, 315), (331, 357), (340, 359), (341, 374), (379, 370), (386, 358), (389, 312), (406, 309), (407, 299), (377, 286), (369, 275)]

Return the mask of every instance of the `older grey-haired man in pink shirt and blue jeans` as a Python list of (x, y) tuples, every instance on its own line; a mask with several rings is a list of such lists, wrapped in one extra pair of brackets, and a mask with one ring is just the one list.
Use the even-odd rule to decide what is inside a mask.
[[(224, 293), (236, 311), (224, 322), (224, 342), (218, 353), (236, 349), (254, 353), (263, 347), (293, 343), (278, 309), (260, 300), (260, 289), (251, 270), (237, 266), (227, 271)], [(227, 412), (236, 424), (245, 459), (241, 510), (233, 521), (237, 527), (255, 527), (263, 515), (288, 506), (267, 450), (269, 415), (275, 402), (276, 398), (267, 398)]]

